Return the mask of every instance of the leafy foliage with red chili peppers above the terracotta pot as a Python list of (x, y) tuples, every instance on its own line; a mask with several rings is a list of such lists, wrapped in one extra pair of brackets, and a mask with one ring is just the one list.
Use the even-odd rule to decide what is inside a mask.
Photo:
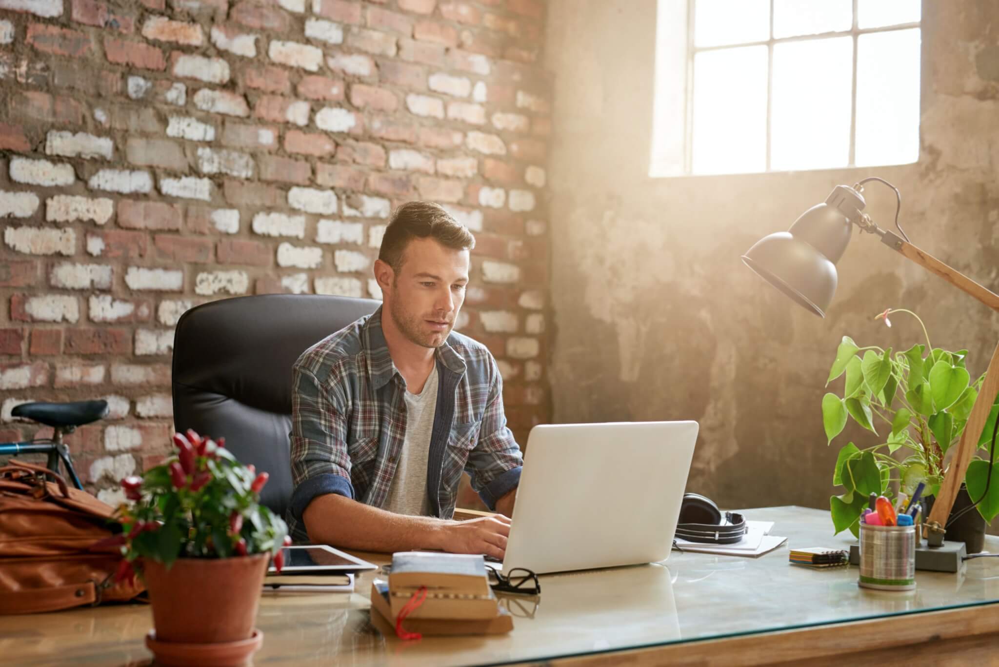
[(281, 547), (291, 538), (284, 520), (259, 502), (268, 473), (237, 461), (224, 438), (216, 442), (188, 430), (186, 436), (175, 433), (173, 440), (173, 457), (121, 482), (134, 502), (116, 513), (123, 532), (111, 539), (125, 558), (115, 579), (133, 579), (141, 559), (169, 569), (178, 558), (266, 552), (274, 555), (280, 571)]

